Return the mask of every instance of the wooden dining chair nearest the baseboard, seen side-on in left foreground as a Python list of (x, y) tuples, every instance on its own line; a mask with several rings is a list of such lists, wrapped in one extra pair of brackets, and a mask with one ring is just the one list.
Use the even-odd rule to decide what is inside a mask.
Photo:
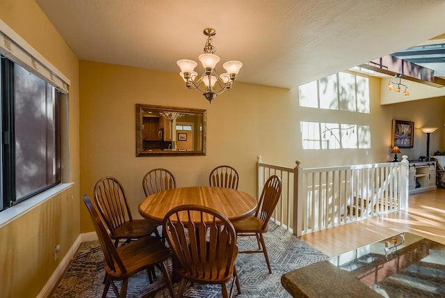
[[(83, 202), (85, 203), (92, 223), (95, 226), (97, 237), (99, 238), (100, 246), (104, 252), (104, 269), (106, 273), (106, 281), (102, 297), (106, 297), (108, 289), (113, 288), (116, 297), (127, 297), (128, 279), (134, 274), (147, 270), (150, 278), (150, 270), (156, 266), (161, 269), (165, 284), (160, 288), (156, 288), (149, 292), (154, 294), (168, 288), (171, 297), (175, 297), (173, 291), (172, 281), (165, 267), (164, 261), (170, 256), (170, 249), (168, 249), (159, 239), (152, 236), (142, 237), (129, 244), (115, 247), (110, 235), (99, 217), (94, 205), (92, 205), (90, 198), (83, 195)], [(122, 281), (120, 292), (115, 285), (115, 281)]]

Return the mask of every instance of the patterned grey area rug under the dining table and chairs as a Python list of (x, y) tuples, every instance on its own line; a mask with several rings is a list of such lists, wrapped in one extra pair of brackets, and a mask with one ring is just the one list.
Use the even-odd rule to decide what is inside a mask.
[[(282, 274), (327, 258), (323, 253), (273, 222), (270, 222), (268, 233), (264, 234), (264, 238), (273, 273), (268, 273), (262, 253), (239, 254), (236, 258), (236, 268), (241, 283), (241, 295), (238, 295), (235, 290), (236, 297), (291, 297), (281, 285)], [(239, 237), (238, 246), (240, 250), (255, 249), (257, 241), (254, 237)], [(98, 241), (83, 242), (72, 264), (50, 297), (102, 297), (104, 290), (102, 260), (103, 254)], [(171, 262), (169, 261), (166, 265), (171, 271)], [(162, 275), (157, 268), (156, 276), (157, 279), (152, 284), (149, 284), (146, 271), (131, 277), (127, 297), (143, 297), (154, 287), (162, 285)], [(177, 283), (174, 284), (175, 291), (177, 285)], [(220, 285), (196, 283), (184, 294), (184, 297), (193, 298), (220, 296)], [(111, 288), (106, 297), (115, 297)], [(170, 295), (165, 289), (158, 292), (155, 297), (170, 297)]]

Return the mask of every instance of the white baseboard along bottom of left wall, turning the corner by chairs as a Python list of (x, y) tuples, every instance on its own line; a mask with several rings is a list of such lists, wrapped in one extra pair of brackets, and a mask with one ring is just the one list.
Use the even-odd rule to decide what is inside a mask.
[(54, 270), (53, 274), (44, 285), (39, 295), (37, 295), (38, 298), (49, 297), (49, 294), (51, 294), (51, 291), (56, 287), (60, 277), (63, 276), (67, 267), (70, 266), (70, 263), (74, 258), (77, 249), (79, 249), (79, 246), (81, 246), (81, 243), (92, 240), (97, 240), (96, 232), (83, 233), (79, 235), (79, 237), (77, 237), (76, 241), (74, 241), (67, 254), (63, 257), (63, 260), (59, 263), (56, 270)]

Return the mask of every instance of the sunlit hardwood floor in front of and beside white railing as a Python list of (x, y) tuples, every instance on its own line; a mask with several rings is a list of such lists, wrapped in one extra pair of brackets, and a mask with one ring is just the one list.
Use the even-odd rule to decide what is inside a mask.
[(394, 212), (302, 235), (326, 256), (337, 256), (402, 231), (445, 244), (445, 189), (412, 194), (408, 212)]

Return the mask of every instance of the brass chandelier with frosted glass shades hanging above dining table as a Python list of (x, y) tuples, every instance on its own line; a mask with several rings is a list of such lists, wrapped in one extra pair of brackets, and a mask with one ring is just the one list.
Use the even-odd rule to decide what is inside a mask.
[(216, 95), (232, 88), (232, 84), (243, 63), (240, 61), (227, 61), (223, 64), (226, 72), (218, 75), (215, 67), (220, 61), (220, 57), (214, 54), (216, 47), (213, 47), (211, 44), (211, 38), (216, 35), (216, 31), (213, 28), (206, 28), (204, 29), (204, 35), (207, 36), (207, 42), (206, 45), (204, 45), (204, 54), (198, 56), (204, 68), (204, 73), (201, 77), (197, 79), (197, 72), (194, 71), (197, 66), (195, 61), (181, 59), (177, 61), (177, 65), (181, 68), (179, 75), (186, 82), (186, 87), (204, 95), (211, 103), (211, 101), (216, 98)]

